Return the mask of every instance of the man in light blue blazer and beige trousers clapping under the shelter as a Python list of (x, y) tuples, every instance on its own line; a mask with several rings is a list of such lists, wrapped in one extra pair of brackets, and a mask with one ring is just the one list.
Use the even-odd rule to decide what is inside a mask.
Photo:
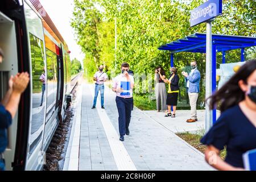
[(189, 105), (191, 106), (191, 118), (187, 119), (188, 123), (197, 121), (196, 102), (200, 92), (200, 72), (197, 69), (196, 61), (192, 61), (190, 65), (192, 70), (189, 74), (187, 72), (182, 72), (182, 75), (187, 81)]

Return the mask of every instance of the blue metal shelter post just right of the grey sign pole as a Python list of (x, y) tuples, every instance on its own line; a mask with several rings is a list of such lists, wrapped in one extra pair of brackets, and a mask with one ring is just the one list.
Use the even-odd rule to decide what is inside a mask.
[[(212, 94), (216, 91), (216, 44), (212, 44)], [(212, 125), (216, 123), (216, 108), (212, 110)]]

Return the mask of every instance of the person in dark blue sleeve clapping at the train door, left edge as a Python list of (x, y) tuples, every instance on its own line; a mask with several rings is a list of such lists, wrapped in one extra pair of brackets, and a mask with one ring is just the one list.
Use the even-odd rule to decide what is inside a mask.
[[(0, 48), (0, 63), (3, 61), (3, 52)], [(5, 170), (5, 160), (3, 152), (7, 147), (7, 129), (11, 125), (16, 111), (18, 110), (21, 94), (27, 88), (30, 78), (28, 73), (18, 73), (11, 76), (9, 80), (9, 90), (0, 103), (0, 171)]]

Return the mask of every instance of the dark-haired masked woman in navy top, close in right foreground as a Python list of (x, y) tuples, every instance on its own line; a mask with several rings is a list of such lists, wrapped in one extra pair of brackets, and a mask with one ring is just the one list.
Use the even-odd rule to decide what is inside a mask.
[(207, 145), (205, 160), (218, 170), (243, 170), (242, 155), (256, 148), (256, 59), (243, 64), (209, 99), (210, 109), (220, 104), (221, 115), (201, 139)]

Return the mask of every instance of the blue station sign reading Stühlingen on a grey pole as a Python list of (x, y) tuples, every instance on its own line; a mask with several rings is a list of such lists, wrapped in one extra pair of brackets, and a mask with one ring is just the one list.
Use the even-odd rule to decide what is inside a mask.
[(222, 0), (209, 0), (191, 11), (190, 26), (206, 22), (222, 14)]

